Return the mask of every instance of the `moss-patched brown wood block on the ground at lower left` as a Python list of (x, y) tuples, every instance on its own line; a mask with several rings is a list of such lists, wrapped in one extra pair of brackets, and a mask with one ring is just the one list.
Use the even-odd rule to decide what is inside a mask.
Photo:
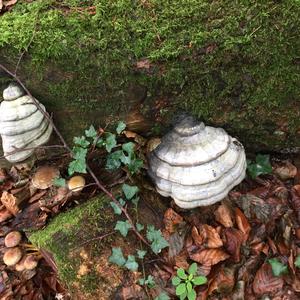
[[(111, 231), (112, 226), (109, 200), (98, 196), (60, 213), (29, 239), (53, 255), (59, 277), (72, 299), (109, 299), (123, 276), (122, 269), (108, 263), (112, 238), (99, 238)], [(115, 243), (117, 239), (113, 240)]]

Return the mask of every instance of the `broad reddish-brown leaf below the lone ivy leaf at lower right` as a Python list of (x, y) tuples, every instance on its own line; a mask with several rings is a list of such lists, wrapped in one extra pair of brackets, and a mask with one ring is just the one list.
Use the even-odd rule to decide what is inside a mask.
[(281, 277), (273, 275), (270, 264), (264, 263), (255, 274), (253, 291), (257, 295), (274, 293), (282, 289), (283, 284), (284, 280)]

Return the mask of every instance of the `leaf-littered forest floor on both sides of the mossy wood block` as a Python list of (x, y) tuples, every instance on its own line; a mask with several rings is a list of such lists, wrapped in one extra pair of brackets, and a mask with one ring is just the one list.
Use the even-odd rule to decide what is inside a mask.
[[(55, 165), (60, 174), (66, 174), (68, 161), (62, 156), (55, 161), (0, 170), (1, 299), (70, 299), (49, 253), (33, 247), (27, 239), (29, 228), (43, 228), (55, 215), (99, 193), (88, 176), (85, 188), (77, 194), (62, 192), (62, 187), (52, 184), (46, 189), (33, 188), (38, 167)], [(188, 270), (193, 262), (198, 265), (197, 275), (206, 278), (202, 285), (193, 286), (198, 300), (299, 299), (299, 159), (272, 157), (271, 164), (272, 172), (255, 179), (247, 176), (215, 205), (183, 210), (170, 199), (161, 215), (161, 232), (169, 246), (144, 260), (143, 271), (140, 267), (140, 272), (135, 268), (133, 272), (126, 270), (129, 279), (121, 282), (110, 299), (179, 299), (174, 277), (182, 272), (178, 270)], [(145, 170), (142, 174), (147, 176)], [(125, 181), (127, 175), (125, 172), (108, 178), (106, 186)], [(151, 193), (156, 194), (154, 189)], [(147, 202), (147, 197), (142, 200)], [(16, 271), (15, 264), (3, 263), (8, 251), (5, 236), (14, 230), (22, 234), (19, 247), (23, 257), (33, 256), (38, 262), (36, 267)], [(105, 263), (110, 262), (107, 255)], [(99, 295), (98, 299), (108, 298)]]

